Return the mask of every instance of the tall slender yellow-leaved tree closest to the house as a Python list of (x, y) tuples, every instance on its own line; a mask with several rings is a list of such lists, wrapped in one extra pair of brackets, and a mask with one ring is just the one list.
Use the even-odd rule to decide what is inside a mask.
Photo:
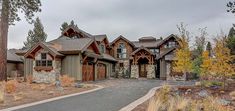
[(177, 26), (180, 32), (180, 40), (178, 48), (175, 52), (175, 61), (173, 62), (173, 70), (175, 72), (183, 73), (183, 78), (186, 80), (186, 74), (192, 71), (191, 52), (189, 49), (189, 32), (186, 31), (186, 27), (183, 23)]

